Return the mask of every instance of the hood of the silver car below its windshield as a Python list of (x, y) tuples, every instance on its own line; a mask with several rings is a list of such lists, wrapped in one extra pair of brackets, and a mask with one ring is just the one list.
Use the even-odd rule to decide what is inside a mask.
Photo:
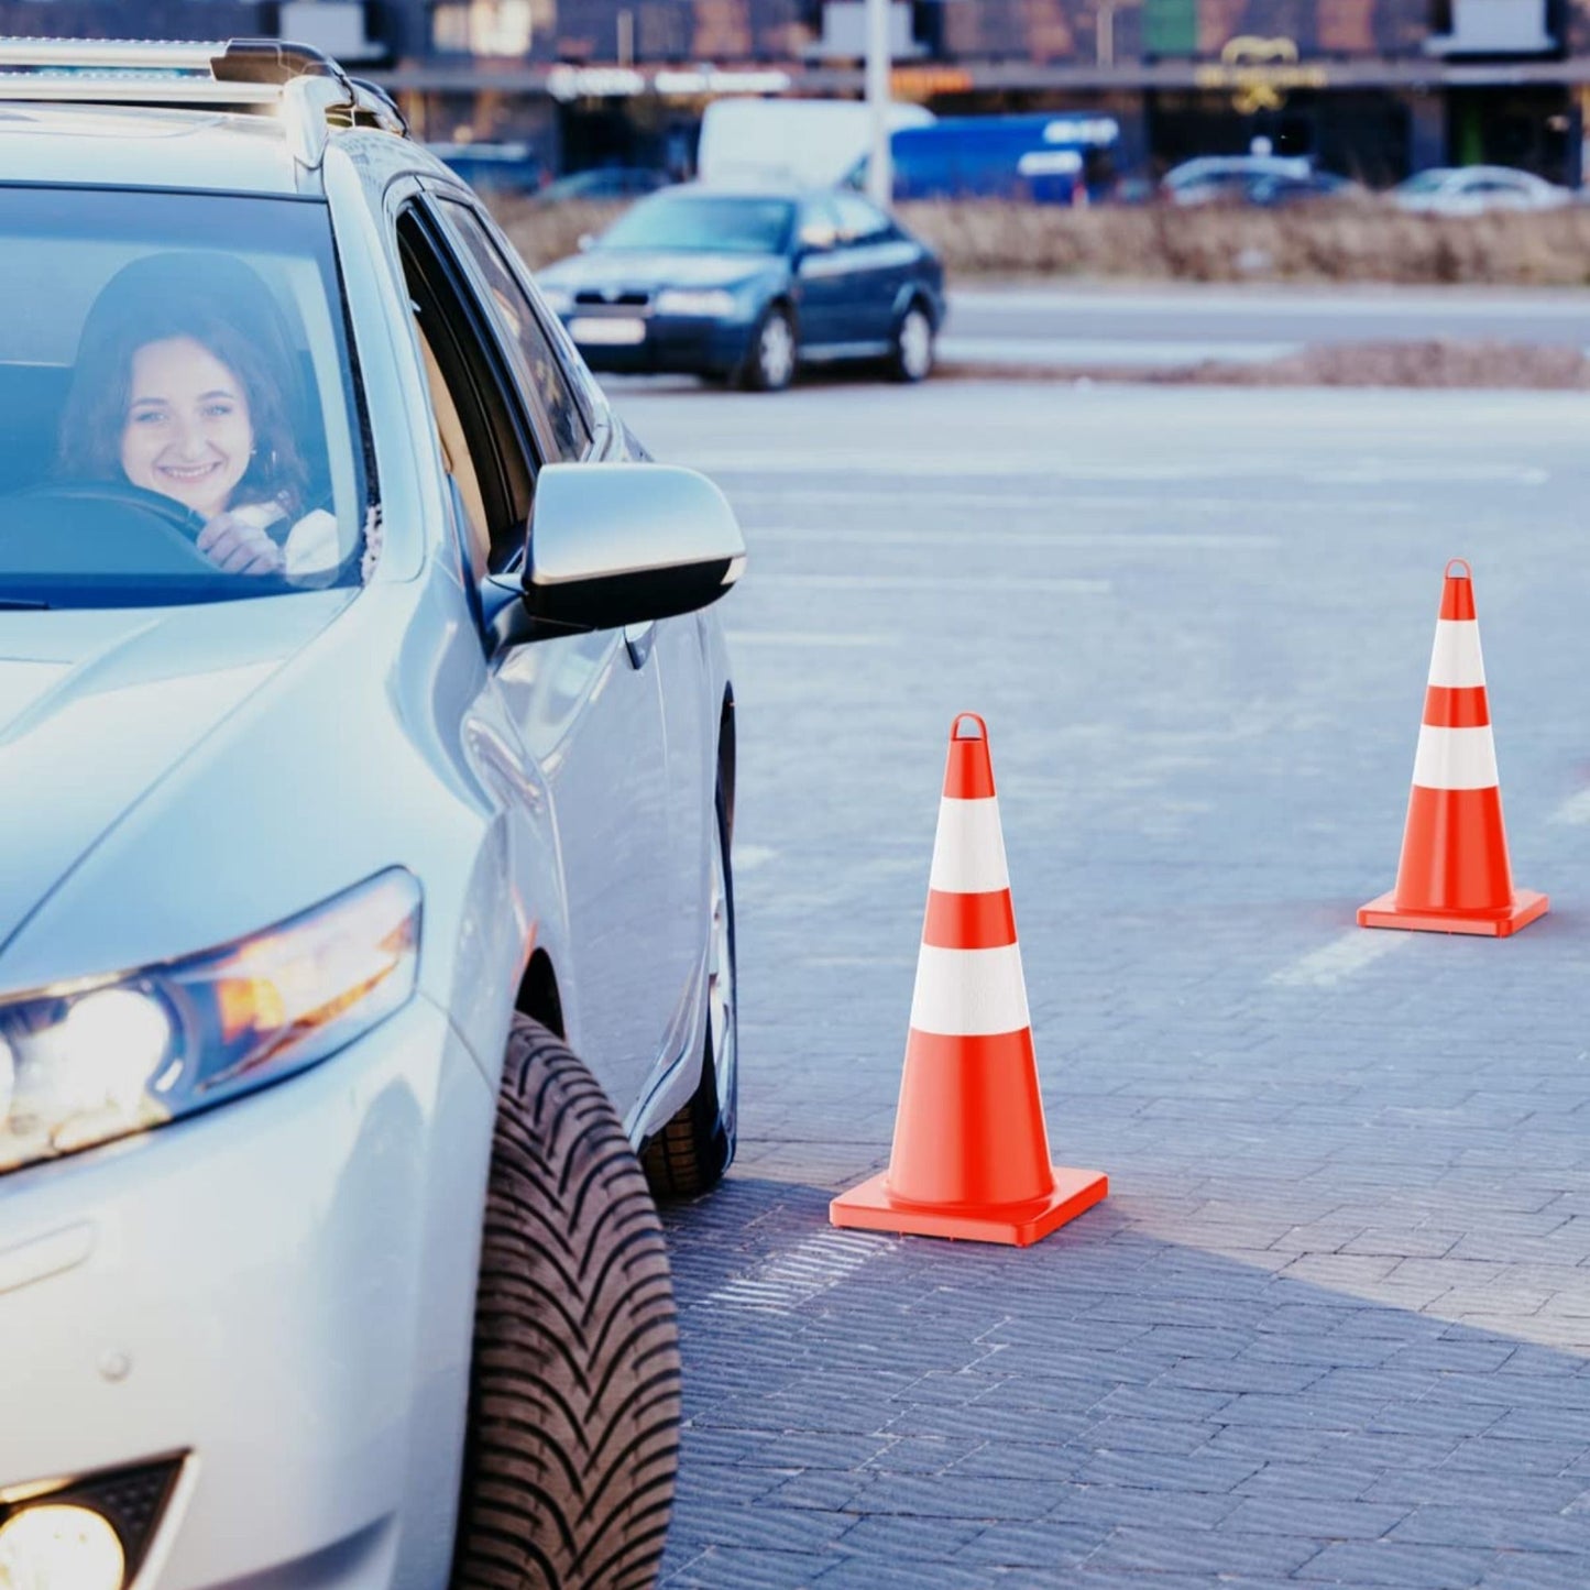
[(353, 595), (0, 612), (0, 944)]

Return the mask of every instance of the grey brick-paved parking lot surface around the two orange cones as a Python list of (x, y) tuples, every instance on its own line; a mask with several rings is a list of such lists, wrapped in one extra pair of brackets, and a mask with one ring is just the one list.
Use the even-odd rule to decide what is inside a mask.
[[(1590, 401), (622, 388), (750, 571), (743, 1142), (668, 1216), (671, 1587), (1590, 1582)], [(1369, 933), (1450, 555), (1515, 940)], [(879, 1169), (944, 736), (989, 722), (1056, 1158), (1019, 1251)]]

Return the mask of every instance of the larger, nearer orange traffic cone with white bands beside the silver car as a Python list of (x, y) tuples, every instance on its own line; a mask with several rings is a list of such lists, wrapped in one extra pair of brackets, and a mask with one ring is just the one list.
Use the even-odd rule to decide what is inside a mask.
[[(962, 735), (976, 723), (975, 735)], [(927, 921), (889, 1169), (828, 1207), (835, 1226), (1018, 1247), (1108, 1191), (1049, 1164), (987, 725), (949, 728)]]

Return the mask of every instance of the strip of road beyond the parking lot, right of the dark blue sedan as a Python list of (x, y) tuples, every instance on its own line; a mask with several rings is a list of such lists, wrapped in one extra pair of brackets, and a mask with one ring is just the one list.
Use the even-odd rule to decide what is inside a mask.
[(1134, 366), (1280, 358), (1339, 342), (1590, 345), (1590, 294), (1474, 288), (951, 289), (946, 359)]

